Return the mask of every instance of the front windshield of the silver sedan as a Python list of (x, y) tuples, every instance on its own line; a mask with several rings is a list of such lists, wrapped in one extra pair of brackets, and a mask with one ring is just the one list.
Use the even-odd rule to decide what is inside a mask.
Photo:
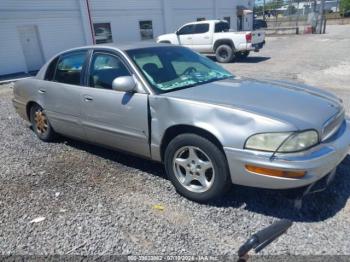
[(215, 62), (184, 47), (151, 47), (127, 53), (157, 93), (233, 77)]

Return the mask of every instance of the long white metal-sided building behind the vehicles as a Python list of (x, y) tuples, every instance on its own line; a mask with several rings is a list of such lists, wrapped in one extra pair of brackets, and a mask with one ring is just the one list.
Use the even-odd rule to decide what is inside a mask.
[(198, 19), (249, 30), (253, 0), (1, 0), (0, 75), (35, 71), (62, 50), (174, 32)]

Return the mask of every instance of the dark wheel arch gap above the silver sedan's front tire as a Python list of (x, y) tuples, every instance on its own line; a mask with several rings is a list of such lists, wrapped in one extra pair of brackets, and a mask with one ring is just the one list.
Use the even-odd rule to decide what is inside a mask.
[(213, 133), (201, 127), (196, 127), (196, 126), (191, 126), (186, 124), (179, 124), (179, 125), (168, 127), (164, 132), (164, 135), (160, 144), (160, 156), (161, 156), (162, 162), (164, 160), (165, 150), (169, 145), (169, 143), (171, 142), (171, 140), (173, 140), (176, 136), (181, 134), (196, 134), (196, 135), (202, 136), (208, 139), (209, 141), (211, 141), (212, 143), (214, 143), (214, 145), (216, 145), (219, 148), (219, 150), (221, 150), (224, 153), (224, 148), (222, 143), (217, 138), (217, 136), (214, 135)]

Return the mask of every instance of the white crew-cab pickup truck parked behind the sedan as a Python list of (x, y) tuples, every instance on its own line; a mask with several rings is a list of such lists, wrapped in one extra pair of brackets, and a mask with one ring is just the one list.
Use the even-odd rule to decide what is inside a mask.
[(265, 44), (264, 31), (231, 32), (223, 20), (206, 20), (188, 23), (175, 33), (157, 37), (157, 43), (187, 46), (204, 54), (215, 53), (221, 63), (235, 57), (245, 58), (250, 51), (258, 52)]

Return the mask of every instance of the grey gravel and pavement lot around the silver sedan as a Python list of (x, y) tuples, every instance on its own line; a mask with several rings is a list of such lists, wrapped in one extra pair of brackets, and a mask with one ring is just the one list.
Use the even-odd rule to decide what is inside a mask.
[[(350, 27), (328, 31), (269, 38), (261, 53), (226, 67), (330, 89), (349, 112)], [(277, 192), (245, 187), (200, 205), (179, 196), (159, 164), (64, 138), (40, 142), (11, 97), (9, 85), (0, 87), (0, 254), (232, 255), (252, 233), (289, 218), (296, 223), (263, 254), (350, 255), (350, 156), (300, 212)]]

